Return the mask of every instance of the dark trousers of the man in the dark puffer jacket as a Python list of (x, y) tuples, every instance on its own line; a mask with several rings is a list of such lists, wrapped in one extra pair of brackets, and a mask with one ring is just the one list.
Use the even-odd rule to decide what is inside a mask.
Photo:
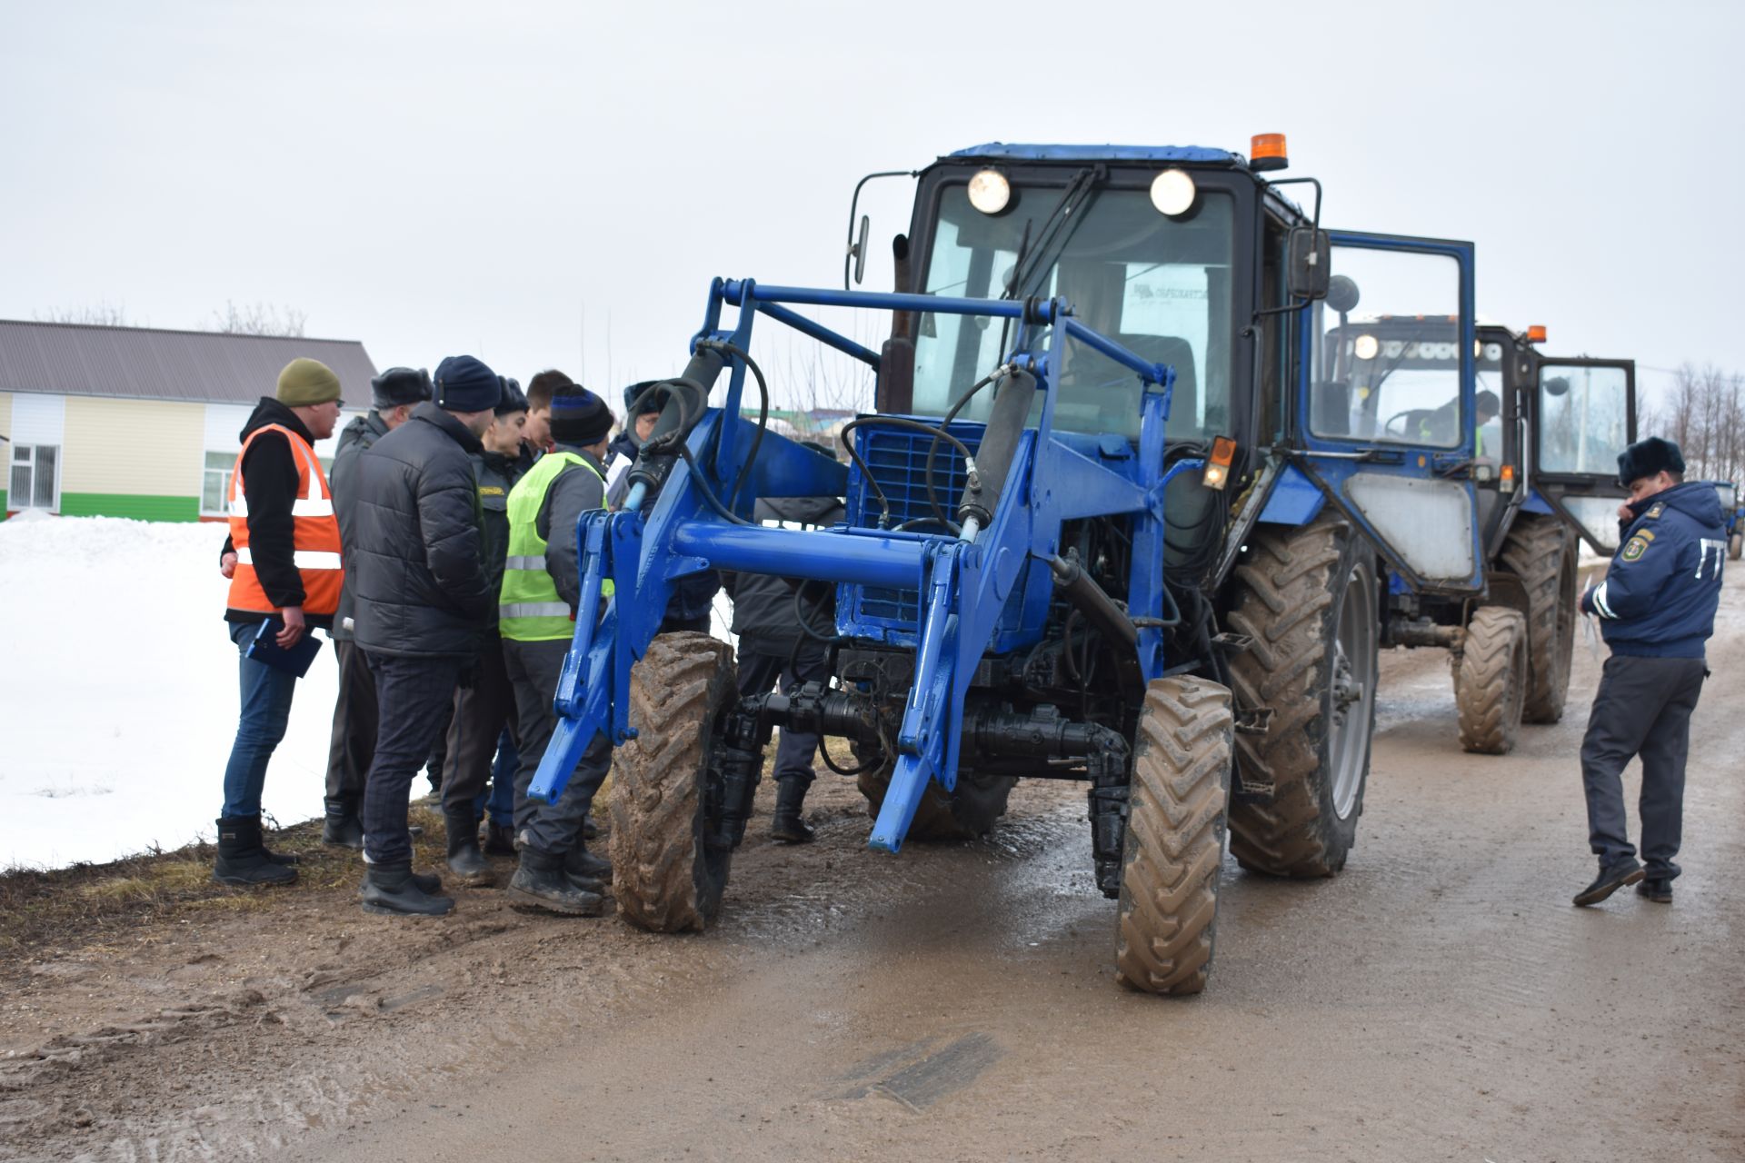
[(412, 779), (441, 729), (440, 711), (454, 701), (461, 659), (412, 659), (370, 654), (380, 729), (363, 788), (363, 854), (372, 863), (412, 860), (407, 802)]

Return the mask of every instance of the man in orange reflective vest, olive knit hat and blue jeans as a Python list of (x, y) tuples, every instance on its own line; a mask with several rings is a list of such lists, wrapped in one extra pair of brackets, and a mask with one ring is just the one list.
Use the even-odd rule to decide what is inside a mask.
[(250, 657), (255, 638), (279, 647), (311, 628), (330, 629), (339, 609), (339, 523), (314, 443), (339, 422), (339, 377), (314, 359), (279, 371), (277, 394), (262, 398), (243, 425), (243, 452), (230, 478), (230, 535), (218, 572), (230, 581), (225, 621), (241, 656), (241, 717), (223, 772), (218, 861), (225, 884), (290, 884), (297, 863), (267, 851), (260, 835), (260, 790), (267, 762), (284, 738), (297, 675)]

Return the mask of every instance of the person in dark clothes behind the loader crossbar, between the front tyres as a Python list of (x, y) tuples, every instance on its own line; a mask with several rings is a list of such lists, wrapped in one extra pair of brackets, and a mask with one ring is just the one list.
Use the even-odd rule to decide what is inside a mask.
[[(754, 511), (759, 521), (834, 525), (843, 520), (836, 497), (770, 497)], [(740, 694), (770, 694), (803, 682), (829, 682), (824, 638), (836, 633), (836, 586), (770, 574), (726, 574), (733, 598), (733, 633), (740, 638)], [(804, 626), (801, 624), (804, 617)], [(808, 633), (810, 631), (810, 633)], [(811, 757), (818, 736), (782, 727), (775, 748), (775, 816), (770, 835), (789, 844), (811, 840), (801, 814), (817, 772)]]

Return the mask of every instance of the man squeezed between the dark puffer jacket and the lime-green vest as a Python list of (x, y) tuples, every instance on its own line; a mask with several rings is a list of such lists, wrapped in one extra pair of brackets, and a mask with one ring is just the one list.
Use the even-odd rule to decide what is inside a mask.
[[(480, 436), (483, 452), (473, 457), (478, 478), (478, 504), (485, 528), (485, 581), (496, 593), (503, 586), (503, 561), (510, 551), (510, 490), (534, 466), (522, 445), (527, 424), (527, 396), (515, 380), (503, 380), (503, 401), (490, 427)], [(504, 727), (515, 724), (515, 687), (503, 668), (503, 640), (497, 635), (497, 609), (490, 609), (478, 666), (469, 687), (454, 696), (454, 722), (448, 725), (448, 764), (441, 781), (441, 814), (448, 828), (448, 870), (464, 884), (490, 884), (490, 865), (478, 851), (478, 804), (490, 778), (492, 755)], [(513, 743), (511, 743), (513, 748)], [(511, 776), (513, 779), (513, 776)], [(515, 797), (508, 797), (513, 820)], [(513, 823), (504, 821), (511, 830)], [(510, 849), (513, 851), (513, 847)]]

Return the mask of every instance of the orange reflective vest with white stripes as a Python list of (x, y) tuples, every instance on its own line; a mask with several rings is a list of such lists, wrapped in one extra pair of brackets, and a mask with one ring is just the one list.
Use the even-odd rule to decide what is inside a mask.
[(248, 493), (243, 488), (243, 457), (262, 432), (283, 432), (297, 460), (297, 500), (291, 502), (291, 560), (304, 579), (304, 614), (333, 614), (339, 610), (339, 588), (344, 570), (339, 558), (339, 518), (333, 516), (333, 490), (316, 450), (302, 436), (283, 424), (263, 424), (243, 441), (236, 453), (236, 471), (230, 473), (230, 547), (236, 549), (236, 574), (230, 575), (232, 610), (272, 614), (279, 607), (260, 588), (255, 558), (248, 547)]

